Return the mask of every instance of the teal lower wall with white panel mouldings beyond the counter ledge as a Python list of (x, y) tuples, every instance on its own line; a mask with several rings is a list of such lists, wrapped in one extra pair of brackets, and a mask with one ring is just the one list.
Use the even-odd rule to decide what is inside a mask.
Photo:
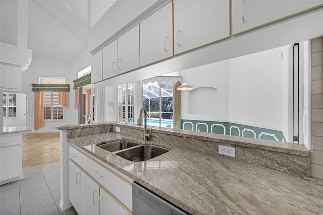
[(181, 120), (181, 129), (286, 142), (282, 131), (230, 122)]

